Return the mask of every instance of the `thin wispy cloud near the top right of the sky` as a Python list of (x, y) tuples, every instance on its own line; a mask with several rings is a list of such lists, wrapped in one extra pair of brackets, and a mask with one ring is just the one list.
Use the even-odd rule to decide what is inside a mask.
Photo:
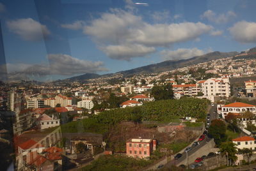
[(212, 10), (207, 10), (204, 12), (203, 15), (200, 16), (201, 19), (207, 19), (211, 22), (215, 22), (217, 24), (226, 23), (230, 21), (231, 19), (234, 19), (236, 17), (236, 13), (233, 11), (227, 11), (227, 13), (221, 13), (217, 15)]

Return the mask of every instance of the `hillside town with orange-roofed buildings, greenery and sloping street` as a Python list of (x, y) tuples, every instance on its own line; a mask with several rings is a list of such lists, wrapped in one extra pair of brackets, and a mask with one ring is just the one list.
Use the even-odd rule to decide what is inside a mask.
[[(145, 160), (149, 164), (143, 170), (172, 166), (210, 170), (250, 163), (256, 159), (256, 61), (241, 56), (248, 53), (131, 77), (1, 82), (1, 123), (6, 124), (1, 124), (0, 140), (13, 147), (6, 163), (15, 170), (71, 170), (115, 154)], [(140, 114), (146, 108), (155, 110), (153, 104), (163, 105), (156, 109), (159, 112), (175, 103), (188, 114), (172, 111), (162, 120)], [(187, 109), (188, 103), (204, 106), (193, 114), (198, 108)], [(97, 119), (105, 122), (122, 112), (133, 116), (100, 130), (107, 124)], [(96, 123), (88, 127), (91, 121)], [(175, 147), (177, 142), (182, 142), (180, 147)], [(228, 143), (235, 144), (233, 152), (223, 147)]]

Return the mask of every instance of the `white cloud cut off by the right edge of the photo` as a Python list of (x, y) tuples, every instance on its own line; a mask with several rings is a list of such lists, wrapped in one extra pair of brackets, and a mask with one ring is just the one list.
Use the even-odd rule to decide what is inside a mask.
[(234, 39), (241, 43), (256, 43), (256, 22), (237, 22), (228, 30)]

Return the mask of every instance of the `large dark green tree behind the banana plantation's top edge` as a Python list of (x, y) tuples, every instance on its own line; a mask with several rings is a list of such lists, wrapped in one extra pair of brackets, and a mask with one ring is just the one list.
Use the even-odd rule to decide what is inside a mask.
[(156, 100), (168, 100), (173, 98), (173, 90), (171, 84), (154, 85), (151, 92)]

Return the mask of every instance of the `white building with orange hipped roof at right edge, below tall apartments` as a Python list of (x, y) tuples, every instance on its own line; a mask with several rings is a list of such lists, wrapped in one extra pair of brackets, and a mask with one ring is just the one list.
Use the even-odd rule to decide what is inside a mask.
[(228, 105), (223, 105), (221, 107), (221, 115), (223, 118), (230, 112), (230, 113), (235, 113), (235, 114), (241, 114), (244, 112), (252, 112), (253, 114), (256, 114), (256, 106), (255, 105), (250, 105), (247, 103), (241, 103), (241, 102), (235, 102), (235, 103), (230, 103)]

